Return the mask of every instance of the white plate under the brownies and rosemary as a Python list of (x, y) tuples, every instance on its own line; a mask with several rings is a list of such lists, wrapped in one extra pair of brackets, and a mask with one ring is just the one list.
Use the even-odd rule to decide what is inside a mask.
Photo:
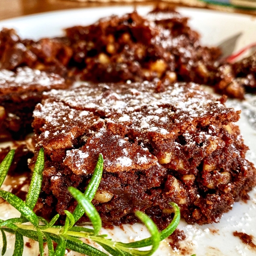
[[(145, 14), (151, 7), (138, 7), (140, 14)], [(74, 25), (87, 25), (95, 22), (100, 17), (112, 14), (122, 15), (131, 12), (133, 7), (108, 7), (92, 9), (73, 9), (61, 12), (48, 12), (39, 15), (29, 15), (0, 22), (1, 27), (15, 28), (21, 37), (39, 39), (41, 37), (53, 37), (63, 35), (62, 29)], [(197, 10), (188, 8), (178, 9), (183, 15), (191, 17), (189, 24), (202, 35), (202, 44), (218, 45), (234, 35), (242, 33), (236, 42), (235, 50), (256, 41), (256, 20), (253, 17), (238, 14), (226, 14), (209, 10)], [(230, 101), (228, 104), (242, 107), (237, 101)], [(239, 120), (241, 133), (244, 136), (245, 144), (251, 149), (247, 156), (256, 163), (256, 131), (250, 127), (246, 116), (242, 113)], [(179, 228), (186, 234), (186, 240), (181, 242), (181, 248), (187, 253), (181, 254), (180, 250), (173, 252), (169, 247), (169, 241), (163, 241), (154, 256), (165, 255), (191, 255), (197, 256), (255, 256), (256, 250), (245, 246), (233, 236), (233, 231), (244, 232), (254, 236), (256, 243), (256, 189), (250, 192), (251, 200), (247, 204), (235, 203), (233, 209), (225, 213), (217, 224), (203, 226), (187, 225), (181, 221)], [(0, 218), (18, 216), (16, 210), (8, 204), (0, 204)], [(116, 227), (114, 230), (102, 230), (102, 233), (109, 233), (113, 239), (131, 241), (141, 239), (148, 235), (145, 228), (140, 224), (133, 226), (126, 225), (125, 231)], [(8, 238), (9, 240), (12, 237)], [(13, 241), (13, 239), (12, 239)], [(23, 255), (38, 255), (38, 245), (34, 242), (32, 249), (25, 247)], [(13, 243), (9, 243), (6, 255), (12, 255)], [(78, 253), (67, 253), (76, 255)]]

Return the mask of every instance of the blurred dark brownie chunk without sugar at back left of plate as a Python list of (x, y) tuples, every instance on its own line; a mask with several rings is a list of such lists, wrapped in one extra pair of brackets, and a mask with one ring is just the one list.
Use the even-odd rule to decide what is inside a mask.
[(66, 38), (42, 38), (39, 41), (21, 39), (14, 29), (0, 31), (0, 68), (15, 70), (17, 67), (58, 73), (70, 79), (67, 64), (72, 55)]

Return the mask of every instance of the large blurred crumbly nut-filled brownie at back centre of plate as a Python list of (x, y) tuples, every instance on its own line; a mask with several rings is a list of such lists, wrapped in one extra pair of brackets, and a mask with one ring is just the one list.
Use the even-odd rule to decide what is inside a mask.
[[(155, 9), (145, 17), (133, 12), (103, 18), (90, 26), (66, 29), (73, 63), (90, 81), (209, 80), (207, 65), (221, 54), (202, 47), (188, 18)], [(207, 73), (207, 74), (206, 74)]]

